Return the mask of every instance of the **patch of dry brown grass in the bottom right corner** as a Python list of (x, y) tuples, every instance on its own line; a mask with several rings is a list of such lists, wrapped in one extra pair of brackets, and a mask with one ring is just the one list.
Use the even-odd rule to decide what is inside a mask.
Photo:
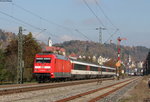
[[(132, 90), (127, 92), (119, 102), (150, 102), (150, 89), (148, 88), (148, 78), (144, 76), (143, 79)], [(144, 101), (148, 99), (149, 101)]]

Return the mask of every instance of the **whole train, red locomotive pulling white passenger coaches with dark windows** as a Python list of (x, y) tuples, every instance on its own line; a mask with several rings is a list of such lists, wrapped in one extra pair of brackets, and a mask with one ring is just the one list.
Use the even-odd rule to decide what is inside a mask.
[(33, 73), (39, 82), (116, 75), (115, 68), (73, 61), (52, 53), (36, 54)]

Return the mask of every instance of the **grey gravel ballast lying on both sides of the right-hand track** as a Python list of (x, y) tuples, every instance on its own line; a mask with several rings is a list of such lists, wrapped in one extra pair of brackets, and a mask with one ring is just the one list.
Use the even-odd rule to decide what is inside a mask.
[[(128, 80), (128, 78), (123, 79)], [(102, 84), (97, 83), (89, 83), (89, 84), (80, 84), (74, 86), (66, 86), (61, 88), (53, 88), (53, 89), (44, 89), (38, 91), (30, 91), (24, 93), (17, 93), (11, 95), (0, 96), (0, 102), (54, 102), (56, 100), (66, 98), (69, 96), (73, 96), (79, 93), (87, 92), (93, 89), (97, 89), (100, 87), (104, 87), (106, 85), (111, 85), (113, 83), (120, 82), (122, 80), (109, 80), (104, 81)], [(127, 87), (123, 88), (123, 90), (119, 90), (118, 92), (110, 95), (100, 102), (116, 102), (119, 97), (122, 96), (131, 86), (135, 85), (132, 83)], [(118, 97), (119, 96), (119, 97)]]

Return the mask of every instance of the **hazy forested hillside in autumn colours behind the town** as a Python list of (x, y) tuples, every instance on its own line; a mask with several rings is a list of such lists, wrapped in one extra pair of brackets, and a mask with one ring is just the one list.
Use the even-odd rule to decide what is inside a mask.
[[(117, 57), (116, 44), (99, 44), (89, 41), (72, 40), (66, 41), (54, 46), (61, 46), (66, 49), (67, 55), (75, 53), (77, 55), (85, 56), (103, 56), (109, 58)], [(130, 55), (134, 61), (145, 60), (149, 49), (143, 46), (121, 46), (121, 58), (127, 60)]]

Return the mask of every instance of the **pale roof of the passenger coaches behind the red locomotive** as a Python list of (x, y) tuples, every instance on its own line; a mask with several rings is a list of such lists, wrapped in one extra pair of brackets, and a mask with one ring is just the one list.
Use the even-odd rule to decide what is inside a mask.
[(86, 63), (86, 62), (80, 62), (80, 61), (74, 61), (74, 60), (71, 60), (71, 63), (80, 64), (80, 65), (87, 65), (87, 66), (92, 66), (92, 67), (102, 67), (102, 68), (116, 70), (116, 68), (113, 68), (113, 67), (106, 67), (106, 66), (101, 66), (101, 65), (96, 65), (96, 64)]

